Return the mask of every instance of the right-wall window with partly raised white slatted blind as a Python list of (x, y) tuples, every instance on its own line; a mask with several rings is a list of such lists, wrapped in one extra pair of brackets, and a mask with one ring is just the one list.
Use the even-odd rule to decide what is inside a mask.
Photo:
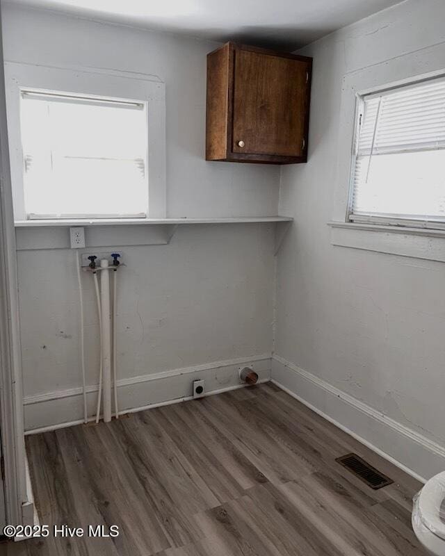
[(445, 226), (445, 79), (362, 97), (349, 219)]

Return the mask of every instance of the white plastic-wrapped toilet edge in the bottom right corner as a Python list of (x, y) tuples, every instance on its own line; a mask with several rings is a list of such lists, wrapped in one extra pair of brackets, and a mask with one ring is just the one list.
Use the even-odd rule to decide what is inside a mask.
[(414, 496), (412, 528), (431, 556), (445, 556), (445, 471)]

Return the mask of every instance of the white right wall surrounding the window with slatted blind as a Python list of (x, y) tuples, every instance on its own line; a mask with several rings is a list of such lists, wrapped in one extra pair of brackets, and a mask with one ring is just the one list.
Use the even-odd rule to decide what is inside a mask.
[[(296, 227), (278, 260), (275, 338), (283, 380), (282, 363), (289, 362), (296, 374), (302, 368), (318, 386), (334, 386), (439, 451), (445, 446), (445, 265), (334, 247), (327, 222), (337, 187), (343, 76), (385, 63), (391, 82), (395, 60), (434, 44), (441, 45), (435, 56), (445, 65), (444, 21), (444, 2), (408, 0), (302, 50), (314, 56), (309, 161), (282, 168), (280, 213), (293, 216)], [(421, 71), (429, 71), (428, 62)], [(326, 392), (314, 394), (314, 404), (329, 414)], [(354, 430), (353, 418), (347, 423), (343, 416), (342, 424)], [(392, 449), (382, 438), (379, 445), (378, 436), (368, 440)], [(407, 463), (410, 455), (394, 450)], [(410, 461), (417, 464), (420, 474), (434, 471)]]

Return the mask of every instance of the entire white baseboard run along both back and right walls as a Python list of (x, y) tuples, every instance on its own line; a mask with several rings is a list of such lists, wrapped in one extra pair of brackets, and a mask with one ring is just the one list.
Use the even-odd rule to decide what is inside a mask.
[[(206, 395), (237, 388), (238, 368), (253, 366), (259, 382), (272, 382), (416, 479), (445, 469), (445, 448), (278, 355), (217, 361), (118, 381), (120, 414), (191, 400), (191, 384), (206, 382)], [(88, 420), (94, 420), (97, 385), (88, 386)], [(26, 434), (83, 423), (80, 388), (24, 398)]]

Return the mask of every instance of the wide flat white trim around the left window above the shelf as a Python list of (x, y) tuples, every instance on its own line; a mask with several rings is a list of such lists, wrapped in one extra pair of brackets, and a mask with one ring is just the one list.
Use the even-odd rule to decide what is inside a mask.
[[(69, 92), (84, 97), (118, 99), (147, 106), (147, 178), (149, 206), (145, 222), (166, 216), (165, 188), (165, 84), (153, 76), (99, 70), (96, 68), (58, 68), (13, 62), (5, 63), (6, 106), (13, 183), (15, 221), (29, 221), (24, 207), (24, 167), (20, 132), (22, 90)], [(42, 219), (39, 219), (42, 220)], [(52, 219), (48, 219), (52, 220)], [(58, 219), (63, 220), (63, 219)], [(79, 221), (104, 222), (106, 218), (79, 218)], [(113, 220), (116, 220), (113, 218)], [(119, 218), (124, 222), (126, 217)]]

